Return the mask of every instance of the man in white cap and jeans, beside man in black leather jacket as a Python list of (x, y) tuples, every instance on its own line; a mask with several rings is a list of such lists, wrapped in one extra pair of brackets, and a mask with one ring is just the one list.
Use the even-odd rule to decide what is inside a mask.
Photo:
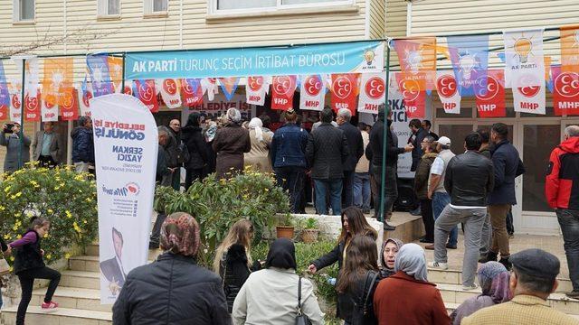
[[(428, 179), (428, 198), (432, 200), (432, 216), (436, 220), (444, 207), (451, 203), (451, 195), (444, 190), (444, 174), (446, 167), (449, 165), (454, 153), (451, 152), (451, 139), (446, 136), (441, 136), (436, 144), (436, 151), (438, 156), (432, 163), (431, 173)], [(447, 248), (456, 249), (459, 237), (459, 228), (456, 226), (452, 228)], [(425, 242), (422, 240), (422, 242)], [(434, 245), (427, 245), (424, 248), (434, 249)]]

